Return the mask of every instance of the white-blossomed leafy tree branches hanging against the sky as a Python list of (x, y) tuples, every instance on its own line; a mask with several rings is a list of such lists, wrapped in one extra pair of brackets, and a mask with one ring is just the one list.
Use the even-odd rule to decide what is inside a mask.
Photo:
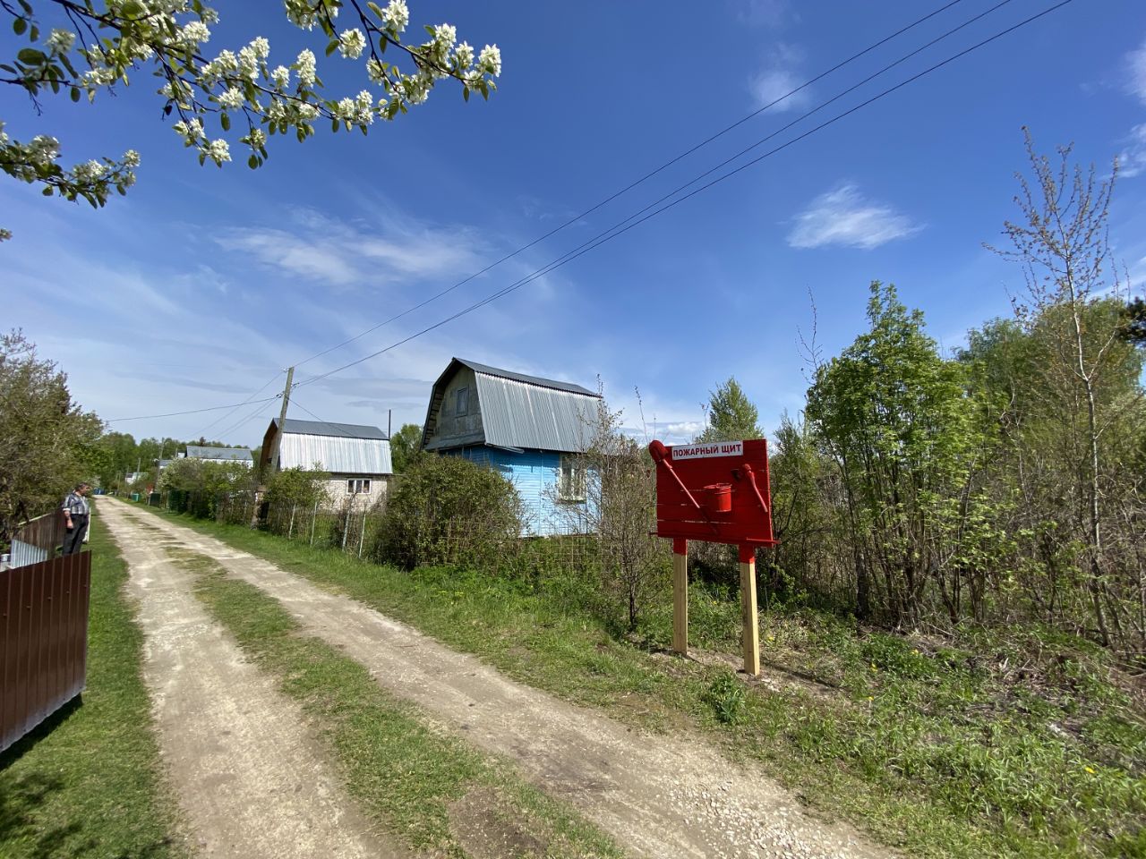
[[(94, 102), (101, 90), (127, 84), (128, 74), (150, 69), (162, 81), (158, 94), (164, 113), (199, 164), (218, 166), (231, 160), (231, 143), (241, 144), (246, 163), (257, 168), (269, 157), (267, 142), (276, 134), (299, 141), (314, 134), (315, 124), (329, 120), (331, 131), (358, 128), (363, 134), (375, 120), (392, 120), (421, 104), (434, 85), (452, 78), (469, 100), (496, 89), (501, 53), (496, 45), (476, 52), (457, 41), (450, 24), (427, 26), (427, 41), (403, 41), (410, 21), (406, 0), (386, 6), (359, 0), (283, 0), (286, 18), (303, 30), (317, 27), (325, 37), (325, 55), (364, 65), (368, 87), (358, 94), (327, 97), (317, 58), (309, 48), (286, 64), (270, 63), (270, 44), (256, 37), (237, 52), (223, 49), (209, 57), (206, 45), (218, 13), (202, 0), (38, 0), (66, 26), (45, 36), (31, 0), (0, 0), (13, 32), (28, 39), (16, 57), (0, 63), (0, 84), (26, 90), (39, 112), (40, 98), (66, 93), (72, 101), (85, 95)], [(339, 29), (339, 13), (351, 26)], [(387, 47), (399, 62), (386, 62)], [(240, 127), (231, 132), (235, 120)], [(218, 135), (209, 127), (218, 124)], [(112, 191), (126, 194), (135, 182), (139, 155), (100, 158), (65, 168), (58, 164), (60, 141), (38, 135), (29, 142), (13, 140), (0, 121), (0, 170), (25, 182), (44, 186), (44, 194), (93, 206), (107, 203)], [(0, 239), (7, 238), (0, 230)]]

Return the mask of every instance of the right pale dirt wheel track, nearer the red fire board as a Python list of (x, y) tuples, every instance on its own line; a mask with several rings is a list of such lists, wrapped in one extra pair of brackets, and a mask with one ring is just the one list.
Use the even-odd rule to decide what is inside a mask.
[[(231, 575), (273, 594), (307, 631), (367, 665), (384, 687), (476, 746), (511, 758), (525, 778), (580, 809), (634, 856), (892, 854), (848, 827), (810, 818), (761, 772), (728, 762), (700, 740), (635, 734), (211, 537), (115, 501), (101, 503), (100, 511), (135, 557), (141, 542), (154, 542), (133, 527), (147, 517), (143, 521), (181, 547), (214, 558)], [(157, 564), (155, 557), (146, 560)]]

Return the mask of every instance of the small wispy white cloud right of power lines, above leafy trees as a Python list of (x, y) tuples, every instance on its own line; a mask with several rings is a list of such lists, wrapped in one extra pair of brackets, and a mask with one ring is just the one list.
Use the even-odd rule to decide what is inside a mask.
[(796, 215), (787, 242), (792, 247), (843, 245), (866, 251), (921, 229), (890, 206), (865, 199), (848, 182), (816, 197)]

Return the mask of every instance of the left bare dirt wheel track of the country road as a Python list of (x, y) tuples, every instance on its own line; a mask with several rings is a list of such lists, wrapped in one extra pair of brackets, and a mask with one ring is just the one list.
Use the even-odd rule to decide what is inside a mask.
[(143, 675), (193, 851), (203, 857), (406, 857), (371, 834), (298, 706), (245, 662), (126, 504), (100, 518), (131, 572)]

